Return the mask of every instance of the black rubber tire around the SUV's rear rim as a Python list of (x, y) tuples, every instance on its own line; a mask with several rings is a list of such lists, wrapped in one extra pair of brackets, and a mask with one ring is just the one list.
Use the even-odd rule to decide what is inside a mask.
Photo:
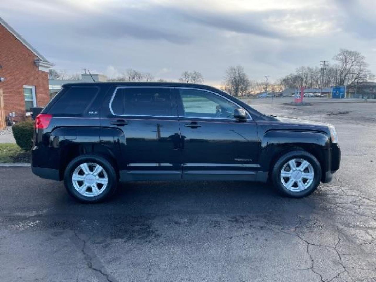
[[(94, 163), (100, 165), (106, 172), (108, 179), (105, 189), (97, 196), (85, 196), (80, 194), (76, 188), (74, 188), (72, 176), (76, 168), (84, 163)], [(68, 194), (74, 199), (82, 203), (99, 203), (108, 197), (112, 196), (116, 191), (118, 184), (117, 174), (113, 165), (105, 158), (99, 155), (85, 154), (74, 158), (65, 169), (64, 172), (64, 185), (68, 191)]]

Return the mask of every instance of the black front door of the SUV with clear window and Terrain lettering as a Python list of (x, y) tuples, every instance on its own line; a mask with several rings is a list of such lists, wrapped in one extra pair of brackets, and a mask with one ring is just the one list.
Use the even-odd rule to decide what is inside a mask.
[(204, 89), (176, 88), (184, 179), (254, 180), (259, 168), (257, 126), (233, 118), (240, 108)]

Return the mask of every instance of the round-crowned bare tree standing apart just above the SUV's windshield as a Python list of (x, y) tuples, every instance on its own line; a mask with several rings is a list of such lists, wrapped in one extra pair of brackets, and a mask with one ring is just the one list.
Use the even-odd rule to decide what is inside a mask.
[(244, 96), (250, 87), (250, 80), (240, 65), (228, 67), (224, 77), (224, 90), (235, 96)]

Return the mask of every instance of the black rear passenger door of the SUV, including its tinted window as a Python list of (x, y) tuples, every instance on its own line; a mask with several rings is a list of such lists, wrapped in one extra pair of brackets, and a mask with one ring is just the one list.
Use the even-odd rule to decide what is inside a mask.
[(109, 95), (101, 142), (115, 144), (121, 180), (180, 179), (179, 121), (170, 88), (120, 86)]

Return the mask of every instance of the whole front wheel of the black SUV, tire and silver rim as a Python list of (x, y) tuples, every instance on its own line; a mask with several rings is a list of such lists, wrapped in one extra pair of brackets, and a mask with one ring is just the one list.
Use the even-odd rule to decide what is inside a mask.
[(321, 180), (321, 166), (315, 156), (296, 150), (281, 156), (273, 167), (275, 188), (284, 196), (302, 198), (313, 193)]

